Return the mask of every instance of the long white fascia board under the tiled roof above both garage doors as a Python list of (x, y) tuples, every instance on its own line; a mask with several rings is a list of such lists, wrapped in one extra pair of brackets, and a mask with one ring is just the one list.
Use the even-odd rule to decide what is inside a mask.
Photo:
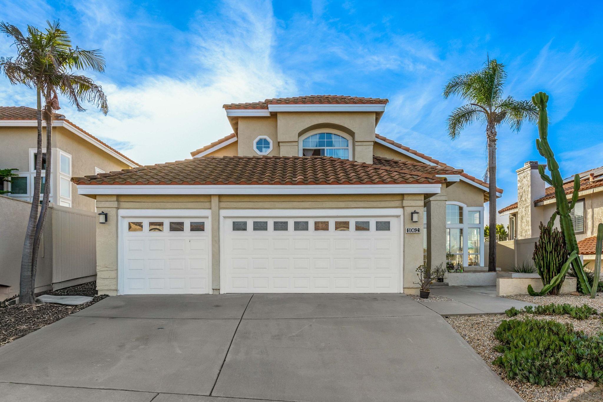
[(437, 194), (441, 184), (134, 185), (78, 184), (81, 195), (113, 194)]

